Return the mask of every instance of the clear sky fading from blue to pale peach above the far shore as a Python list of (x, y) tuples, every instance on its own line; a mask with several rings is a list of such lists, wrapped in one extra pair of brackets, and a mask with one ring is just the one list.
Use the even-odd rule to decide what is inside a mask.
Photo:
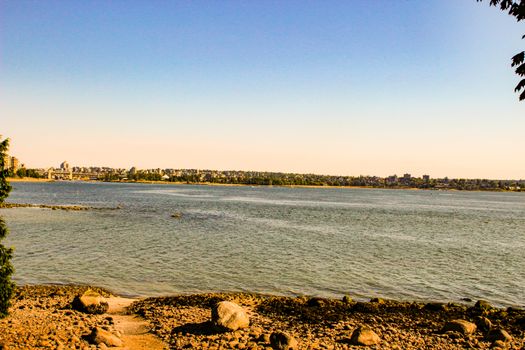
[(474, 0), (0, 0), (0, 135), (30, 168), (524, 179), (523, 34)]

